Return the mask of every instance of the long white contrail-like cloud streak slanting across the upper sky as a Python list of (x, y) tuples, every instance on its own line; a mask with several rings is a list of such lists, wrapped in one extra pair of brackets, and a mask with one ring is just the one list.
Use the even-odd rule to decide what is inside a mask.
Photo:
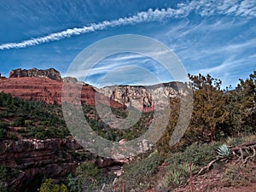
[(256, 0), (208, 0), (191, 1), (190, 3), (178, 3), (176, 9), (148, 9), (130, 17), (122, 17), (116, 20), (105, 20), (99, 23), (90, 23), (88, 26), (71, 28), (61, 32), (51, 33), (44, 37), (32, 38), (20, 43), (0, 44), (0, 49), (20, 49), (37, 44), (44, 44), (51, 41), (58, 41), (63, 38), (95, 32), (108, 27), (135, 25), (148, 21), (162, 21), (166, 19), (183, 18), (191, 12), (201, 16), (209, 15), (236, 15), (245, 17), (256, 17)]

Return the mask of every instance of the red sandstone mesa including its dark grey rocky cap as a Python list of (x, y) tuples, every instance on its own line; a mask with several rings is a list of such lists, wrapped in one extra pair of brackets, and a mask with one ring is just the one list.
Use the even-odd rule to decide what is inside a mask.
[[(62, 92), (64, 83), (67, 83), (69, 89)], [(61, 73), (54, 68), (12, 70), (9, 79), (0, 78), (0, 92), (2, 91), (28, 101), (61, 104), (62, 99), (65, 99), (73, 104), (82, 102), (95, 106), (96, 89), (93, 86), (72, 77), (61, 79)], [(99, 96), (100, 102), (108, 105), (108, 97), (101, 94)], [(115, 101), (110, 101), (110, 105), (113, 108), (123, 107), (121, 103)]]

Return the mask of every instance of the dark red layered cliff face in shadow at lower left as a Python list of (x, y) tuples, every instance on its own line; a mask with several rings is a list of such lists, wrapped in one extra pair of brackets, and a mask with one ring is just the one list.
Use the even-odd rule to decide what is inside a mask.
[(88, 154), (88, 157), (91, 155), (73, 137), (2, 140), (0, 141), (0, 164), (19, 171), (17, 177), (9, 183), (15, 184), (19, 191), (24, 181), (37, 175), (61, 178), (74, 172), (79, 164), (74, 154), (81, 152)]

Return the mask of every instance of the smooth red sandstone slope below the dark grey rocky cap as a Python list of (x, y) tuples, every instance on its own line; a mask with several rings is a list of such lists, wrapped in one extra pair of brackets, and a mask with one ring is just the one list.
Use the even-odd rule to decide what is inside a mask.
[[(0, 79), (0, 92), (10, 93), (12, 96), (19, 97), (23, 100), (44, 101), (48, 104), (61, 104), (62, 86), (62, 81), (38, 77)], [(95, 106), (96, 90), (93, 86), (65, 83), (66, 86), (69, 89), (64, 92), (65, 101), (76, 103), (78, 101), (73, 100), (78, 100), (76, 95), (81, 94), (81, 101), (83, 103)], [(107, 96), (97, 94), (97, 98), (100, 98), (99, 102), (108, 104)], [(110, 103), (113, 108), (123, 107), (119, 102), (111, 101)]]

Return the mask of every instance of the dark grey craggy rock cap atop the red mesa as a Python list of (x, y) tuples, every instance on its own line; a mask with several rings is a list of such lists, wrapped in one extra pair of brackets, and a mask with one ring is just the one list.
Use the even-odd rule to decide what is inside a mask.
[(54, 68), (49, 68), (45, 70), (32, 68), (26, 69), (15, 69), (9, 73), (9, 78), (25, 78), (25, 77), (36, 77), (36, 78), (48, 78), (53, 80), (61, 81), (61, 73), (59, 73)]

